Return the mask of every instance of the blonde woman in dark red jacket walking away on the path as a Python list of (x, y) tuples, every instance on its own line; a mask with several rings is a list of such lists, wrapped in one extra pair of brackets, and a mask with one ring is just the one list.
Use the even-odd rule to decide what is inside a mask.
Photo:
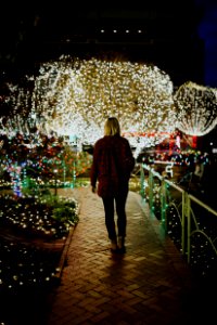
[[(104, 136), (94, 144), (90, 179), (92, 192), (97, 192), (103, 200), (112, 252), (126, 251), (125, 208), (133, 167), (135, 158), (128, 140), (120, 135), (118, 120), (115, 117), (107, 118), (104, 125)], [(115, 221), (115, 209), (117, 221)]]

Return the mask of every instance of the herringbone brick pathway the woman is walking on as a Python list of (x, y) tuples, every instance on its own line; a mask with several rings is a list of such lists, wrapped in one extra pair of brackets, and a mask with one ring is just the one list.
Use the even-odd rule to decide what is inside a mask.
[(80, 221), (52, 292), (49, 325), (181, 325), (207, 318), (188, 266), (138, 194), (130, 192), (127, 200), (125, 255), (108, 249), (101, 198), (85, 187), (78, 197)]

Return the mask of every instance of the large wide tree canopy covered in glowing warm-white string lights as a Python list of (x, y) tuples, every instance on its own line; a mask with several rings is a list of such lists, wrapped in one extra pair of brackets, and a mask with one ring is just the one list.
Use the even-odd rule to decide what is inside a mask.
[(18, 116), (7, 126), (0, 120), (8, 135), (22, 130), (30, 134), (36, 127), (35, 142), (40, 133), (68, 135), (81, 148), (101, 138), (105, 119), (115, 116), (123, 133), (143, 134), (129, 141), (144, 147), (162, 142), (176, 126), (173, 82), (156, 66), (63, 55), (42, 64), (28, 81), (34, 81), (31, 93), (11, 87)]

